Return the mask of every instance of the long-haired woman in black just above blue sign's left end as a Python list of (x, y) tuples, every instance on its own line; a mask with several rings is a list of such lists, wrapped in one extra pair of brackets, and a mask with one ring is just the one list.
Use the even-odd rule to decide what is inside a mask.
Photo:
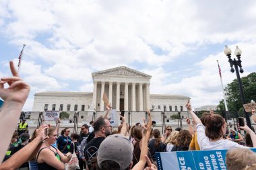
[(156, 152), (162, 152), (164, 148), (164, 144), (161, 140), (161, 134), (158, 129), (153, 130), (153, 138), (148, 142), (148, 148), (150, 148), (150, 154), (153, 161), (156, 161)]

